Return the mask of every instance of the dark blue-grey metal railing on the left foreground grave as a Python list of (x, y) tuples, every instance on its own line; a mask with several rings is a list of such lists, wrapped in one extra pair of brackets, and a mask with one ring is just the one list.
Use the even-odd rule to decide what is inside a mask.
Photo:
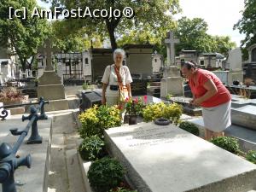
[[(2, 183), (3, 192), (16, 192), (15, 188), (15, 170), (19, 166), (31, 167), (32, 157), (30, 154), (26, 157), (18, 158), (16, 153), (20, 148), (21, 143), (27, 136), (30, 127), (32, 127), (32, 134), (27, 140), (27, 144), (42, 143), (43, 138), (38, 134), (38, 119), (48, 119), (47, 115), (44, 113), (44, 104), (49, 102), (44, 102), (44, 98), (41, 97), (39, 104), (39, 109), (41, 110), (40, 115), (38, 115), (38, 108), (31, 106), (29, 116), (22, 116), (22, 121), (29, 119), (28, 124), (25, 129), (18, 131), (18, 129), (11, 129), (10, 132), (14, 136), (19, 136), (17, 142), (14, 144), (13, 148), (9, 143), (0, 143), (0, 183)], [(35, 104), (31, 103), (30, 105)]]

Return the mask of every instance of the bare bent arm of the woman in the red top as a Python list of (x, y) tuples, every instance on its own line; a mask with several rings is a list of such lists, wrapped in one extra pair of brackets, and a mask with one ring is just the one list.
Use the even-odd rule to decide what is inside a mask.
[(206, 94), (195, 99), (192, 104), (194, 105), (201, 105), (202, 102), (207, 101), (212, 96), (218, 93), (216, 85), (213, 83), (212, 79), (207, 80), (207, 82), (203, 85), (203, 87), (207, 90)]

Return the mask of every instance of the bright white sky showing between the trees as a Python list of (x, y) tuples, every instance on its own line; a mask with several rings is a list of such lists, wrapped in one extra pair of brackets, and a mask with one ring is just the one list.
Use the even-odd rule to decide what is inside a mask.
[[(49, 7), (40, 0), (38, 4), (42, 7)], [(200, 17), (207, 21), (208, 33), (211, 35), (230, 36), (236, 46), (245, 37), (237, 30), (233, 30), (234, 24), (241, 19), (241, 10), (244, 8), (244, 0), (179, 0), (183, 13), (175, 15), (177, 20), (182, 16), (189, 19)]]

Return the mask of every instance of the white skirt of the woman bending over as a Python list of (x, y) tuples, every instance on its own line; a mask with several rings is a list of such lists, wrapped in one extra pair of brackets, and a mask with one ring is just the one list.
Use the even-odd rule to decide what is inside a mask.
[(231, 125), (231, 101), (213, 108), (202, 108), (204, 125), (207, 130), (221, 132)]

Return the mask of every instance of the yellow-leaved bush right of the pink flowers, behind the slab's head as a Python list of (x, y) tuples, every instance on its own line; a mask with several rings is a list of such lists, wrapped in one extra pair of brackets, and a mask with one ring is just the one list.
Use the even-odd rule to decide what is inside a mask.
[(164, 102), (159, 102), (149, 104), (143, 109), (143, 119), (148, 122), (158, 118), (166, 118), (177, 125), (182, 112), (182, 107), (177, 103), (165, 104)]

